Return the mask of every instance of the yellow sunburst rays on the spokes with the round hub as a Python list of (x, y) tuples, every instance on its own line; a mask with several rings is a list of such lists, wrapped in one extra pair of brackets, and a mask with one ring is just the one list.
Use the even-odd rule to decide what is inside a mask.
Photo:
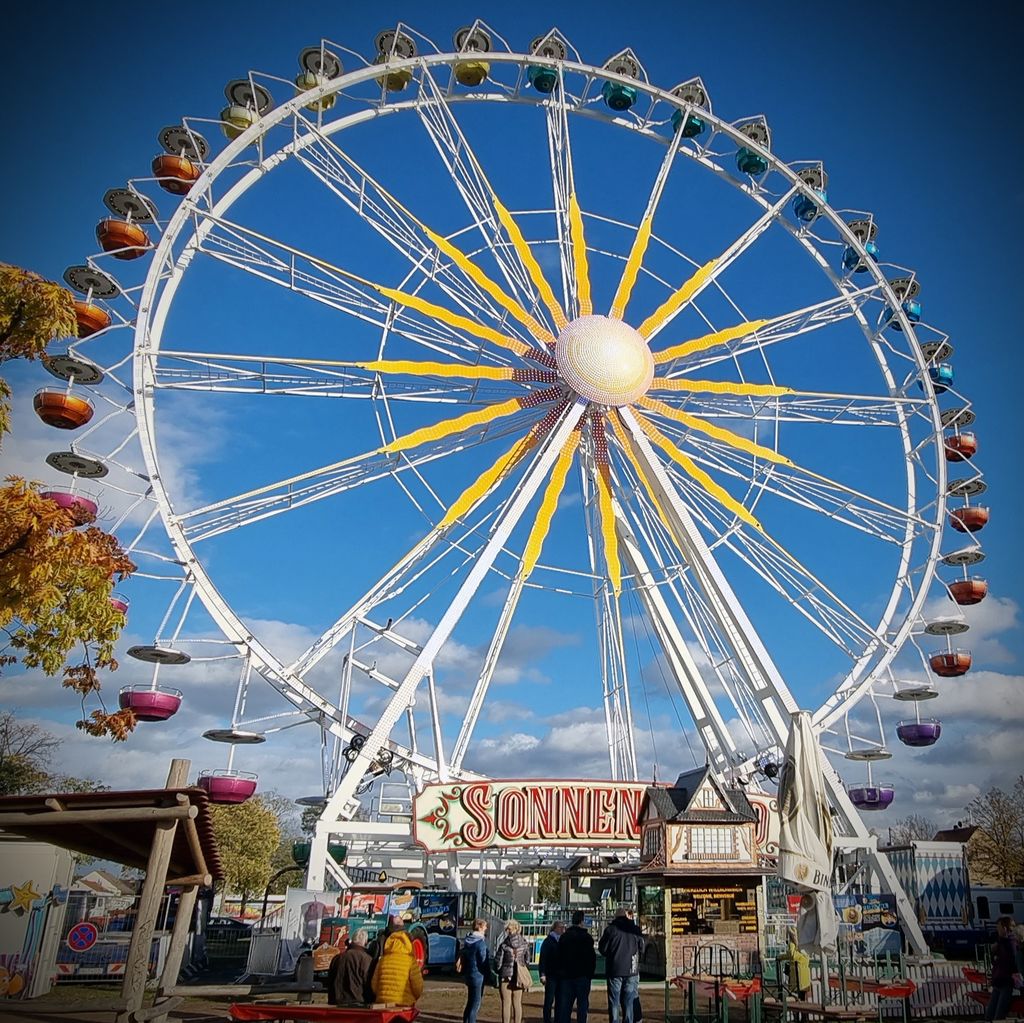
[[(346, 161), (356, 166), (345, 157)], [(380, 187), (378, 185), (378, 187)], [(488, 185), (489, 187), (489, 185)], [(383, 191), (383, 188), (381, 189)], [(385, 195), (388, 195), (385, 193)], [(658, 392), (669, 394), (713, 394), (730, 397), (777, 398), (800, 395), (803, 392), (777, 384), (732, 383), (719, 380), (700, 380), (685, 375), (658, 375), (657, 368), (714, 348), (726, 347), (735, 341), (756, 339), (759, 331), (770, 323), (752, 319), (723, 330), (670, 344), (658, 351), (650, 347), (654, 335), (668, 327), (675, 316), (713, 280), (719, 259), (709, 259), (697, 266), (638, 327), (630, 326), (626, 309), (633, 296), (637, 280), (643, 268), (644, 256), (652, 237), (654, 209), (653, 197), (632, 240), (625, 259), (622, 275), (607, 316), (594, 315), (590, 262), (586, 239), (586, 224), (575, 190), (572, 188), (566, 202), (567, 238), (563, 244), (568, 249), (571, 268), (571, 294), (563, 305), (547, 280), (530, 244), (520, 229), (516, 217), (490, 191), (490, 203), (496, 224), (505, 232), (507, 245), (516, 254), (535, 294), (531, 307), (511, 295), (498, 284), (472, 257), (454, 242), (444, 238), (409, 212), (394, 197), (388, 199), (400, 209), (422, 231), (423, 237), (436, 251), (438, 258), (450, 261), (466, 280), (492, 299), (502, 310), (502, 323), (517, 325), (514, 329), (499, 329), (467, 315), (394, 288), (365, 281), (346, 271), (331, 267), (350, 280), (357, 281), (398, 307), (399, 314), (417, 313), (433, 325), (443, 326), (455, 332), (462, 342), (466, 337), (481, 342), (481, 353), (488, 348), (498, 349), (520, 360), (520, 365), (494, 365), (471, 361), (440, 361), (437, 359), (386, 359), (335, 363), (384, 378), (413, 377), (438, 380), (461, 380), (475, 388), (485, 382), (506, 382), (518, 385), (522, 392), (516, 396), (481, 400), (480, 407), (440, 422), (420, 427), (395, 437), (380, 451), (386, 454), (412, 452), (424, 444), (445, 438), (468, 439), (487, 430), (492, 424), (517, 414), (524, 416), (525, 433), (505, 449), (496, 461), (447, 507), (439, 526), (446, 528), (464, 519), (487, 495), (502, 485), (517, 466), (531, 452), (544, 444), (548, 434), (558, 423), (569, 404), (579, 398), (589, 402), (587, 415), (562, 445), (554, 459), (536, 517), (521, 556), (522, 578), (528, 579), (539, 564), (545, 541), (562, 496), (569, 472), (578, 459), (584, 459), (584, 469), (593, 484), (596, 521), (600, 531), (600, 548), (608, 585), (617, 597), (623, 585), (623, 566), (620, 557), (618, 527), (616, 525), (615, 468), (609, 458), (609, 439), (624, 459), (624, 467), (639, 481), (648, 501), (657, 513), (668, 534), (676, 542), (672, 518), (663, 507), (664, 496), (648, 478), (643, 460), (638, 455), (636, 441), (617, 410), (630, 408), (636, 422), (653, 449), (666, 460), (675, 464), (692, 481), (713, 498), (735, 519), (765, 535), (761, 522), (734, 498), (678, 443), (667, 436), (656, 425), (656, 420), (669, 420), (687, 431), (702, 434), (718, 444), (742, 452), (755, 459), (788, 468), (799, 468), (772, 447), (760, 444), (739, 433), (719, 426), (709, 420), (660, 400)], [(507, 319), (506, 319), (507, 316)], [(547, 319), (552, 326), (548, 326)], [(465, 347), (465, 346), (464, 346)], [(474, 403), (476, 403), (474, 401)], [(536, 410), (536, 416), (530, 413)], [(513, 428), (512, 432), (515, 432)], [(584, 443), (584, 438), (588, 438)], [(585, 453), (585, 454), (584, 454)], [(808, 475), (814, 476), (813, 473)], [(821, 477), (818, 477), (821, 478)], [(777, 546), (777, 545), (776, 545)]]

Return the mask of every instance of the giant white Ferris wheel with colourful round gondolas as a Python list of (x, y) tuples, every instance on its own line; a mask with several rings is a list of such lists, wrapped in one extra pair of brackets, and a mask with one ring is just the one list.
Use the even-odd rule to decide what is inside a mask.
[[(859, 811), (895, 795), (872, 765), (939, 738), (921, 710), (970, 669), (958, 608), (987, 593), (974, 412), (915, 274), (830, 204), (822, 163), (784, 162), (699, 78), (664, 89), (555, 30), (526, 52), (480, 22), (452, 48), (403, 25), (375, 42), (325, 40), (294, 82), (250, 73), (219, 116), (163, 129), (66, 274), (80, 336), (36, 407), (85, 428), (47, 493), (111, 485), (137, 585), (170, 584), (122, 706), (166, 720), (175, 671), (231, 659), (233, 711), (206, 731), (231, 757), (206, 783), (246, 798), (234, 751), (313, 721), (326, 848), (376, 777), (479, 776), (532, 603), (594, 630), (565, 684), (612, 778), (647, 774), (645, 672), (733, 778), (772, 778), (813, 699), (839, 829), (868, 845)], [(189, 421), (228, 424), (205, 470)], [(293, 655), (240, 604), (304, 587), (330, 624)], [(189, 629), (197, 597), (220, 650)], [(460, 624), (485, 640), (453, 715)], [(254, 673), (284, 711), (253, 709)]]

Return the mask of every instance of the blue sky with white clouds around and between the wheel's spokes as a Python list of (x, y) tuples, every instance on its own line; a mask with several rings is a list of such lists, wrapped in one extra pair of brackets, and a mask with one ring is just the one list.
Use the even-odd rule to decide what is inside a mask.
[[(1024, 191), (1014, 177), (1021, 143), (1006, 126), (1016, 115), (1012, 74), (1019, 37), (1010, 31), (993, 33), (990, 25), (965, 19), (952, 6), (913, 4), (899, 9), (862, 4), (840, 11), (810, 4), (767, 9), (726, 3), (685, 13), (673, 4), (650, 4), (642, 11), (610, 4), (572, 4), (557, 10), (521, 4), (514, 12), (496, 4), (450, 4), (442, 9), (395, 4), (370, 13), (350, 7), (325, 15), (257, 3), (247, 6), (244, 18), (226, 5), (177, 5), (169, 16), (164, 10), (104, 4), (84, 24), (70, 5), (36, 10), (45, 14), (30, 18), (22, 12), (8, 19), (0, 43), (0, 75), (10, 99), (3, 114), (5, 136), (19, 143), (4, 169), (9, 208), (0, 225), (0, 258), (53, 278), (94, 251), (92, 232), (102, 215), (102, 194), (147, 172), (162, 126), (182, 115), (216, 117), (224, 83), (249, 69), (292, 77), (298, 51), (325, 36), (369, 53), (376, 32), (401, 19), (443, 45), (456, 28), (481, 17), (513, 46), (524, 47), (557, 25), (586, 60), (601, 63), (630, 45), (652, 82), (668, 87), (699, 74), (720, 116), (735, 120), (765, 114), (774, 151), (790, 161), (822, 160), (833, 204), (872, 211), (883, 257), (916, 270), (925, 318), (950, 335), (956, 346), (956, 386), (970, 395), (979, 416), (978, 462), (989, 483), (985, 500), (992, 507), (992, 524), (982, 537), (987, 554), (983, 573), (992, 597), (971, 615), (969, 639), (978, 671), (943, 684), (935, 713), (947, 728), (944, 741), (927, 751), (927, 759), (899, 751), (888, 773), (901, 784), (901, 798), (890, 816), (919, 812), (923, 805), (935, 807), (936, 814), (955, 814), (975, 790), (1013, 776), (1019, 768), (1019, 753), (1014, 751), (1020, 748), (1024, 713), (1018, 623), (1021, 547), (1010, 524), (1022, 497), (1016, 469), (1019, 375), (1013, 348), (1019, 328), (1013, 298), (1021, 269)], [(57, 19), (73, 23), (74, 32), (55, 32)], [(127, 45), (126, 33), (131, 40)], [(283, 96), (284, 86), (281, 90)], [(17, 101), (22, 94), (30, 98)], [(502, 139), (488, 131), (485, 119), (473, 112), (466, 114), (466, 127), (476, 132), (474, 143), (492, 161), (488, 172), (501, 194), (509, 197), (509, 205), (528, 204), (537, 170), (528, 154), (510, 155)], [(215, 146), (222, 141), (213, 126), (207, 134)], [(461, 208), (442, 191), (439, 170), (427, 165), (425, 151), (410, 147), (417, 144), (422, 139), (416, 143), (390, 131), (368, 131), (359, 159), (412, 208), (429, 212), (442, 229), (457, 229), (464, 223), (459, 220)], [(649, 152), (634, 151), (628, 142), (603, 148), (596, 135), (592, 138), (582, 129), (575, 156), (585, 208), (635, 223), (648, 187), (649, 176), (644, 174), (653, 172), (660, 153), (652, 160)], [(329, 206), (322, 195), (309, 196), (308, 184), (301, 177), (288, 181), (283, 176), (261, 194), (265, 199), (254, 198), (245, 212), (287, 241), (373, 280), (395, 284), (394, 257), (383, 246), (349, 235), (343, 211)], [(695, 257), (713, 253), (716, 245), (734, 237), (736, 224), (746, 222), (742, 218), (749, 208), (698, 175), (682, 179), (678, 189), (668, 197), (673, 214), (666, 233), (688, 253), (692, 249)], [(709, 210), (714, 215), (708, 215)], [(800, 298), (809, 294), (803, 289), (813, 286), (801, 275), (802, 269), (779, 275), (776, 283), (774, 245), (769, 241), (760, 262), (730, 279), (729, 287), (741, 295), (745, 311), (770, 314), (807, 304)], [(778, 257), (783, 258), (781, 247)], [(820, 289), (807, 302), (819, 297)], [(333, 337), (340, 327), (349, 330), (338, 316), (334, 310), (308, 306), (296, 312), (280, 296), (264, 304), (263, 292), (249, 282), (211, 271), (182, 289), (181, 312), (171, 323), (180, 337), (195, 332), (187, 342), (197, 348), (274, 352), (282, 350), (279, 341), (287, 336), (294, 346), (291, 351), (323, 354), (325, 337)], [(355, 343), (362, 343), (362, 337), (355, 329), (346, 335)], [(835, 350), (819, 351), (819, 361), (811, 365), (780, 353), (779, 372), (788, 374), (784, 382), (841, 389), (841, 383), (829, 386), (829, 381), (835, 379), (834, 367), (845, 366), (845, 349), (841, 340), (833, 343)], [(863, 365), (851, 363), (846, 373), (842, 383), (851, 389), (858, 382), (866, 386)], [(35, 423), (31, 412), (25, 413), (31, 392), (50, 378), (38, 367), (12, 368), (10, 378), (17, 388), (19, 415), (3, 459), (13, 471), (31, 474), (31, 466), (40, 464), (47, 451), (62, 446)], [(360, 441), (373, 439), (368, 417), (346, 415), (339, 420), (331, 402), (303, 407), (301, 413), (284, 399), (272, 399), (272, 408), (267, 404), (241, 397), (229, 406), (183, 402), (173, 416), (172, 407), (166, 407), (167, 429), (178, 431), (165, 435), (178, 453), (182, 500), (186, 492), (225, 496), (240, 488), (232, 491), (236, 482), (255, 485), (301, 471), (342, 457), (332, 455), (339, 444), (343, 452), (354, 452), (361, 450)], [(798, 446), (804, 442), (794, 440)], [(873, 440), (865, 443), (868, 449), (859, 454), (847, 442), (829, 456), (837, 473), (842, 470), (849, 474), (846, 478), (865, 485), (868, 479), (888, 485), (884, 452), (870, 449)], [(814, 446), (815, 441), (809, 441), (808, 452)], [(494, 454), (498, 450), (495, 444), (487, 447)], [(454, 497), (465, 485), (459, 480), (472, 478), (473, 465), (467, 460), (461, 467), (464, 476), (445, 470), (434, 480)], [(422, 528), (422, 518), (401, 502), (394, 487), (380, 493), (368, 487), (360, 494), (366, 500), (348, 502), (343, 510), (324, 503), (301, 520), (282, 516), (262, 532), (240, 531), (210, 549), (211, 572), (232, 606), (247, 621), (261, 623), (261, 634), (285, 649), (302, 649), (360, 591), (359, 584), (369, 585)], [(563, 507), (556, 519), (551, 543), (566, 552), (566, 562), (582, 555), (580, 524), (579, 508)], [(775, 527), (784, 532), (786, 525), (776, 521)], [(799, 523), (790, 528), (784, 539), (803, 541), (807, 556), (820, 559), (817, 563), (828, 579), (844, 583), (861, 606), (882, 599), (878, 581), (884, 566), (857, 540), (833, 542), (826, 532), (802, 529)], [(736, 586), (755, 604), (761, 628), (776, 637), (788, 628), (787, 610), (754, 583)], [(145, 641), (159, 624), (166, 594), (152, 597), (138, 585), (132, 596), (129, 632)], [(459, 693), (465, 694), (502, 596), (497, 581), (484, 587), (483, 599), (467, 615), (439, 667), (442, 686), (445, 669), (452, 680), (451, 716), (456, 722), (462, 706)], [(496, 773), (566, 773), (581, 763), (581, 752), (589, 756), (603, 742), (592, 669), (584, 659), (593, 654), (591, 611), (583, 601), (568, 601), (569, 607), (565, 603), (537, 598), (517, 620), (515, 643), (504, 665), (507, 682), (498, 687), (480, 732), (489, 743), (480, 755)], [(427, 631), (432, 620), (435, 615), (425, 613), (416, 628)], [(200, 614), (189, 622), (197, 631), (204, 626), (208, 623)], [(680, 742), (678, 707), (658, 696), (659, 670), (644, 651), (644, 642), (643, 630), (636, 630), (635, 657), (650, 690), (649, 722), (639, 692), (635, 713), (642, 719), (644, 749), (648, 739), (657, 747), (664, 777), (690, 766), (691, 760)], [(802, 639), (788, 644), (776, 640), (773, 647), (807, 702), (820, 700), (837, 670), (819, 659), (823, 654), (813, 643), (810, 637), (806, 645)], [(132, 670), (128, 664), (122, 674)], [(101, 774), (111, 782), (135, 780), (136, 772), (157, 780), (152, 775), (153, 754), (169, 755), (171, 745), (194, 750), (199, 766), (220, 763), (221, 750), (204, 748), (196, 736), (229, 713), (233, 670), (227, 664), (211, 667), (214, 674), (193, 691), (183, 683), (195, 713), (183, 712), (163, 732), (153, 727), (140, 731), (128, 749), (119, 749), (109, 759), (102, 743), (87, 743), (68, 731), (75, 708), (58, 704), (47, 683), (10, 679), (3, 683), (11, 687), (4, 702), (67, 732), (68, 754), (84, 765), (83, 773)], [(588, 671), (589, 678), (579, 677)], [(308, 753), (312, 733), (299, 731), (301, 741), (267, 743), (246, 753), (247, 762), (241, 766), (281, 778), (279, 786), (288, 795), (315, 788), (315, 758)], [(963, 767), (964, 750), (970, 751), (970, 771)], [(652, 759), (648, 753), (646, 763)], [(599, 772), (593, 758), (585, 762)]]

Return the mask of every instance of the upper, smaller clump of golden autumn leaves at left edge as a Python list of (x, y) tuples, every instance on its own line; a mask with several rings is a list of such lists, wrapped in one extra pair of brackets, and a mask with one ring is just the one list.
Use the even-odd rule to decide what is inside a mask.
[[(33, 359), (56, 337), (76, 337), (75, 298), (38, 273), (0, 263), (0, 363)], [(10, 388), (0, 379), (0, 441), (10, 429)]]

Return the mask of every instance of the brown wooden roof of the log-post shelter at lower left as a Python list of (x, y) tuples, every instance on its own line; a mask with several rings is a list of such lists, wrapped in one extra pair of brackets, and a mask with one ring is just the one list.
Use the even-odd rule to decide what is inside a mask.
[[(145, 788), (133, 792), (52, 793), (0, 797), (0, 829), (11, 835), (110, 859), (144, 870), (160, 818), (146, 818), (147, 809), (195, 807), (195, 817), (182, 817), (174, 832), (170, 879), (209, 873), (214, 881), (224, 868), (213, 834), (210, 801), (202, 788)], [(105, 811), (141, 811), (136, 819)], [(76, 811), (93, 811), (83, 820)], [(63, 819), (61, 819), (63, 818)]]

